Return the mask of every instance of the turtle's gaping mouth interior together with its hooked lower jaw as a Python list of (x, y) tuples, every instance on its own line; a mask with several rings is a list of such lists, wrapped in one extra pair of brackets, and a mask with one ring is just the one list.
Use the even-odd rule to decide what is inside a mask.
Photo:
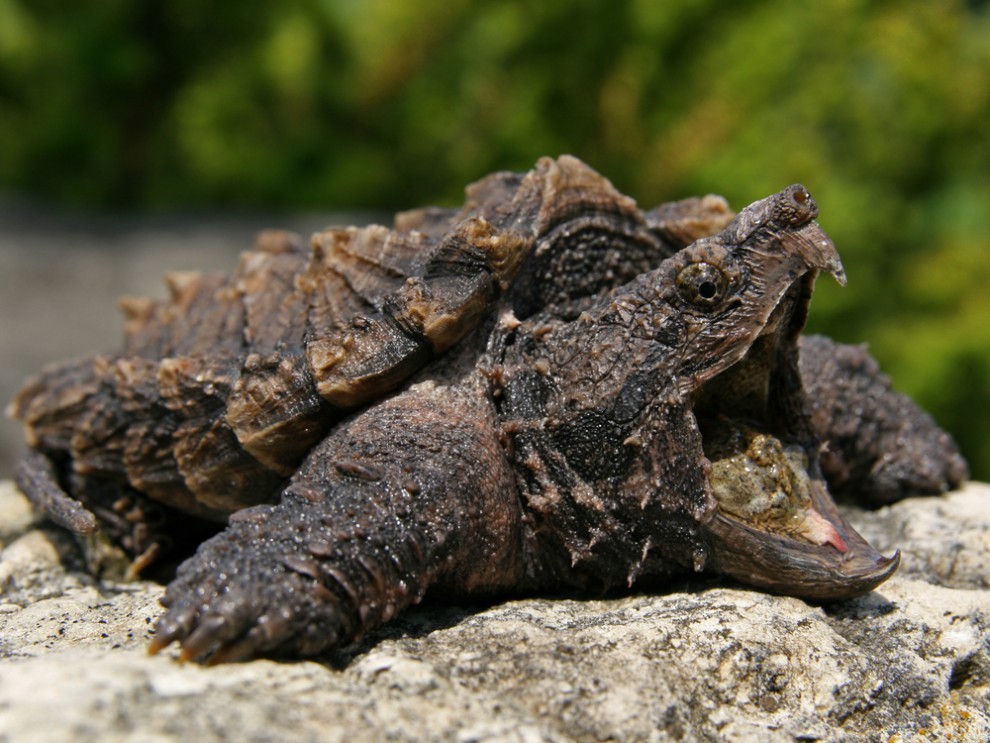
[(839, 514), (807, 421), (797, 338), (811, 271), (778, 302), (746, 355), (700, 389), (695, 416), (717, 508), (708, 528), (716, 568), (777, 593), (841, 599), (897, 569)]

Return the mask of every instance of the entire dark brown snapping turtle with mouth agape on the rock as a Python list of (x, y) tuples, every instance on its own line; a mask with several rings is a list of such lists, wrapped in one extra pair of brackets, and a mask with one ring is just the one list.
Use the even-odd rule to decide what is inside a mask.
[(427, 591), (861, 594), (898, 555), (826, 480), (880, 503), (966, 465), (863, 349), (799, 342), (816, 275), (844, 282), (816, 216), (797, 185), (641, 212), (565, 156), (392, 230), (265, 233), (31, 380), (17, 480), (135, 572), (226, 522), (163, 599), (152, 650), (185, 658), (318, 653)]

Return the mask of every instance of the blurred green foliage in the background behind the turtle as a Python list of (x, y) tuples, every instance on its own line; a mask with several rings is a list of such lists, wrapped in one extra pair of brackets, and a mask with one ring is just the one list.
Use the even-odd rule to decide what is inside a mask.
[(405, 208), (571, 152), (642, 204), (804, 182), (868, 340), (990, 479), (990, 11), (902, 0), (0, 0), (0, 184)]

